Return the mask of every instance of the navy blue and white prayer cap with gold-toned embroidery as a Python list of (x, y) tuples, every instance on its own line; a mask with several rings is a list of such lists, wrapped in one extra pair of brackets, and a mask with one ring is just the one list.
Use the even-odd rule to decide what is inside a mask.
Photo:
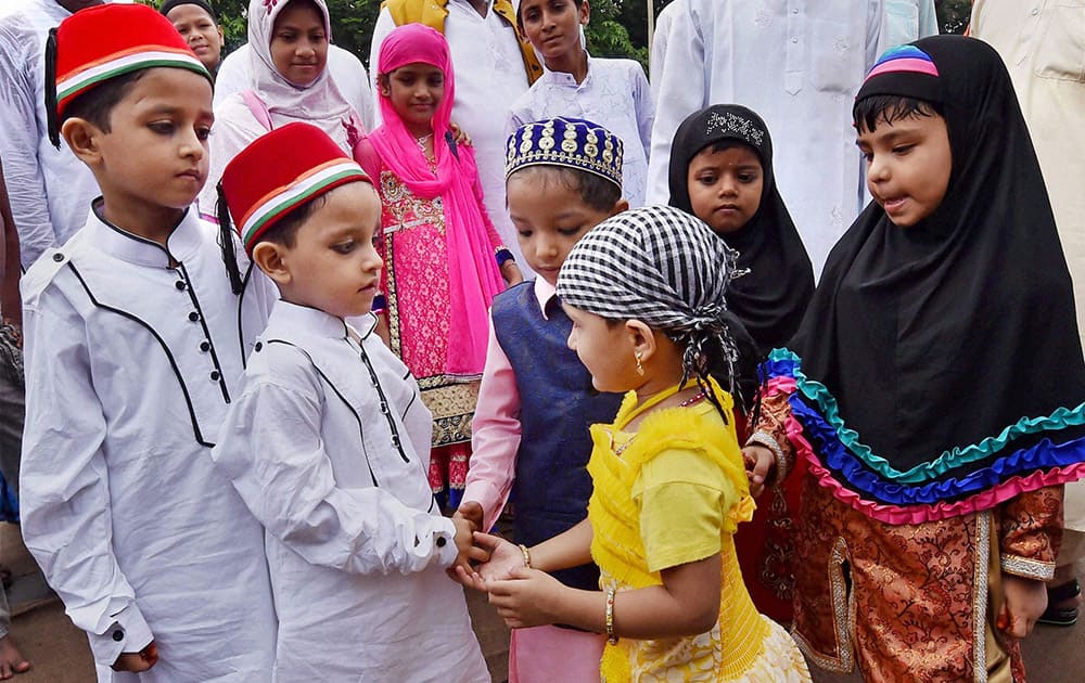
[(622, 189), (622, 139), (599, 124), (550, 118), (509, 137), (505, 177), (528, 166), (563, 166), (600, 176)]

